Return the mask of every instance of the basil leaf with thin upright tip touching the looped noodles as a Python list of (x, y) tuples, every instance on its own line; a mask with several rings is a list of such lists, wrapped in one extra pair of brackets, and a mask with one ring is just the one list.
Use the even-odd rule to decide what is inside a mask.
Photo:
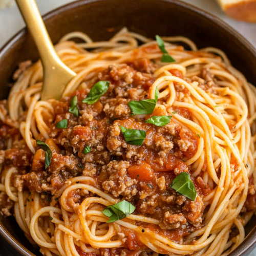
[(158, 88), (155, 91), (155, 99), (142, 99), (140, 101), (131, 100), (128, 105), (133, 112), (133, 115), (152, 114), (157, 104), (159, 96)]

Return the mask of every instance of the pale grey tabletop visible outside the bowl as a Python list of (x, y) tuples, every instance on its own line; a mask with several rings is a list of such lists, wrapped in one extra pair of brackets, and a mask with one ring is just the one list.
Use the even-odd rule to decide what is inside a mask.
[[(2, 1), (2, 0), (0, 0)], [(216, 0), (182, 0), (195, 5), (223, 19), (226, 23), (238, 30), (246, 37), (254, 47), (256, 47), (256, 24), (238, 22), (226, 16)], [(59, 6), (73, 2), (73, 0), (37, 0), (38, 8), (41, 14), (45, 14)], [(120, 1), (121, 2), (121, 1)], [(25, 24), (16, 6), (0, 10), (0, 47), (8, 41), (16, 32), (22, 29)], [(256, 256), (256, 249), (250, 256)]]

